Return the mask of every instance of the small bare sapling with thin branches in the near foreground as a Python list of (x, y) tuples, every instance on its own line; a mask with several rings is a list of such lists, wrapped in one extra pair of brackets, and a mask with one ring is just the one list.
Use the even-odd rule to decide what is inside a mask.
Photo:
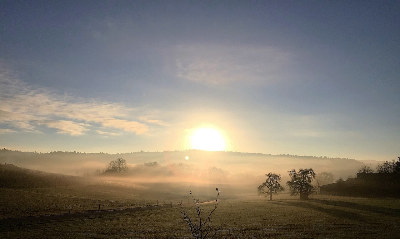
[[(208, 238), (216, 238), (217, 233), (224, 227), (224, 225), (213, 228), (211, 225), (211, 216), (212, 213), (217, 209), (218, 205), (218, 196), (220, 195), (220, 190), (216, 188), (217, 197), (215, 199), (215, 207), (209, 213), (205, 214), (203, 212), (203, 207), (200, 204), (198, 199), (194, 199), (192, 195), (192, 191), (190, 191), (190, 195), (194, 200), (194, 205), (185, 211), (183, 205), (180, 205), (180, 214), (183, 216), (183, 221), (178, 221), (178, 223), (184, 223), (188, 225), (190, 229), (190, 233), (192, 233), (193, 238), (196, 239), (208, 239)], [(190, 210), (194, 209), (194, 215), (190, 215)]]

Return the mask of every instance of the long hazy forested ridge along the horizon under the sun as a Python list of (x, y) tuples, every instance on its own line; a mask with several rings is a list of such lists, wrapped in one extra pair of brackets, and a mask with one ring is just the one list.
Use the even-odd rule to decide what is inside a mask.
[[(188, 158), (186, 160), (185, 158)], [(244, 152), (210, 152), (204, 150), (131, 152), (123, 154), (82, 153), (82, 152), (20, 152), (0, 150), (0, 162), (19, 165), (47, 172), (75, 175), (80, 172), (97, 174), (116, 158), (124, 158), (130, 168), (148, 162), (157, 162), (174, 170), (174, 164), (191, 165), (193, 169), (222, 169), (225, 174), (263, 176), (268, 172), (287, 175), (287, 171), (299, 168), (313, 168), (316, 173), (332, 172), (334, 177), (354, 176), (363, 162), (349, 158), (329, 158), (326, 156), (296, 156), (289, 154), (258, 154)], [(170, 165), (170, 166), (169, 166)], [(182, 168), (182, 167), (180, 167)], [(187, 169), (189, 170), (189, 169)], [(100, 171), (100, 172), (99, 172)]]

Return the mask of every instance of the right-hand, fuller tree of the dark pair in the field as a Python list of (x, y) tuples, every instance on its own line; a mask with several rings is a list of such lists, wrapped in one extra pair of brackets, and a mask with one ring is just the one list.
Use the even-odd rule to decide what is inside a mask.
[(308, 199), (308, 195), (315, 192), (315, 188), (311, 182), (316, 174), (312, 168), (300, 168), (299, 172), (292, 169), (288, 173), (291, 180), (286, 182), (286, 185), (289, 186), (290, 196), (300, 194), (300, 199)]

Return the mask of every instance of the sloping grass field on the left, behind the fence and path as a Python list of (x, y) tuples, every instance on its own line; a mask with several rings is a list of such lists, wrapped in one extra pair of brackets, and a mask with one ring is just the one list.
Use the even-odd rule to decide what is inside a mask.
[[(112, 210), (164, 205), (178, 201), (188, 202), (189, 194), (182, 195), (164, 190), (165, 187), (149, 189), (143, 186), (126, 187), (108, 183), (66, 186), (55, 188), (6, 189), (0, 188), (0, 219), (54, 215), (69, 212)], [(167, 202), (168, 200), (168, 202)], [(190, 201), (192, 199), (190, 198)], [(123, 205), (122, 205), (123, 204)]]

